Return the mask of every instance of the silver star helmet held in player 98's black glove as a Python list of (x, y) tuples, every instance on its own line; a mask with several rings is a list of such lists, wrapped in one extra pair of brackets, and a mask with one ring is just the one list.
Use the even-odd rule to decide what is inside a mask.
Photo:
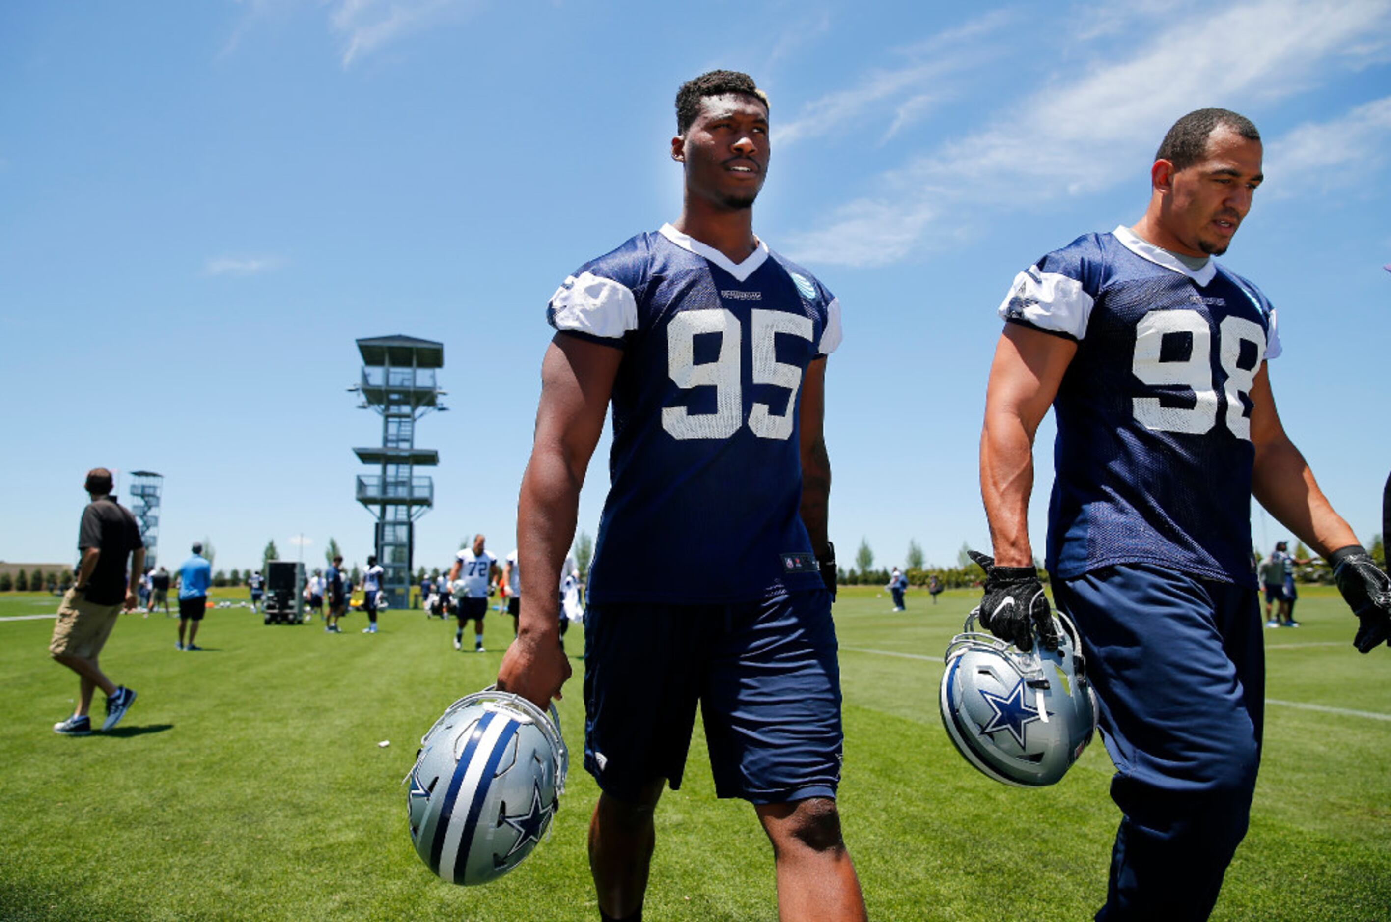
[(947, 645), (942, 725), (971, 765), (1006, 784), (1057, 783), (1096, 730), (1081, 638), (1061, 612), (1053, 615), (1061, 626), (1056, 652), (1035, 644), (1024, 654), (972, 630), (976, 612)]

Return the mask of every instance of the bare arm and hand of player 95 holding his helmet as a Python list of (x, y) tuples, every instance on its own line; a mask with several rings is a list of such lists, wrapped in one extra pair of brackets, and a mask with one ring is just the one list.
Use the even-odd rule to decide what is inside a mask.
[(580, 488), (604, 431), (620, 349), (556, 334), (541, 363), (541, 403), (531, 459), (517, 499), (517, 567), (523, 588), (517, 638), (502, 656), (498, 687), (544, 708), (561, 697), (570, 663), (561, 649), (561, 567), (574, 540)]

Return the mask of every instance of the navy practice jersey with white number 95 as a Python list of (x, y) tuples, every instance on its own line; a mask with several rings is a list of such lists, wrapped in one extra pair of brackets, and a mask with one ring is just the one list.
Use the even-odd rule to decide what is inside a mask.
[(840, 306), (762, 242), (743, 263), (664, 225), (586, 263), (551, 325), (623, 349), (594, 602), (743, 602), (821, 585), (801, 523), (803, 374)]

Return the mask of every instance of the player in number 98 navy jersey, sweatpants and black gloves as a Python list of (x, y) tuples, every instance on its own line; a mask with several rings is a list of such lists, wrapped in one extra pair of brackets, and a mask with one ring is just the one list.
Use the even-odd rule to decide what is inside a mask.
[[(1097, 919), (1202, 919), (1245, 836), (1264, 659), (1251, 496), (1337, 567), (1362, 652), (1391, 591), (1276, 413), (1276, 312), (1213, 256), (1262, 181), (1256, 127), (1184, 115), (1131, 228), (1088, 234), (1021, 273), (1000, 306), (981, 492), (982, 623), (1029, 649), (1057, 636), (1034, 569), (1032, 442), (1053, 407), (1045, 566), (1079, 629), (1123, 819)], [(1031, 630), (1032, 627), (1032, 630)]]

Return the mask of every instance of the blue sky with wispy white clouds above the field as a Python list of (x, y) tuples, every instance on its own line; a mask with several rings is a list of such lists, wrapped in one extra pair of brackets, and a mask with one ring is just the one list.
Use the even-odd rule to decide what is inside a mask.
[[(842, 300), (832, 538), (986, 542), (976, 442), (1014, 274), (1139, 218), (1181, 114), (1266, 138), (1224, 259), (1280, 310), (1287, 428), (1366, 538), (1391, 467), (1391, 0), (245, 0), (0, 8), (0, 559), (75, 556), (82, 474), (166, 476), (161, 551), (370, 551), (355, 338), (445, 343), (417, 563), (513, 547), (545, 302), (676, 217), (672, 99), (772, 99), (755, 231)], [(1042, 548), (1052, 427), (1031, 530)], [(580, 524), (598, 523), (606, 441)], [(1264, 547), (1285, 531), (1253, 506)], [(693, 562), (694, 563), (694, 562)]]

